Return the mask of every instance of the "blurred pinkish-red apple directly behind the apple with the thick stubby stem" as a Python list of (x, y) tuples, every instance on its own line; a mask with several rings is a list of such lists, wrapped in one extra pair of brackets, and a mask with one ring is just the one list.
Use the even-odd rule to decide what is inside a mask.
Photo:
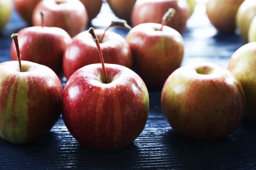
[(132, 25), (141, 23), (159, 23), (169, 8), (174, 8), (176, 13), (167, 26), (183, 33), (186, 21), (190, 16), (190, 7), (186, 0), (137, 0), (132, 9)]

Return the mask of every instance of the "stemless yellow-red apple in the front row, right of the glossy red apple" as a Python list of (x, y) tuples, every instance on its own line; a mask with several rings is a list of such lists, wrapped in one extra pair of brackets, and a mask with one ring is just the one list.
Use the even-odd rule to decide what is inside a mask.
[(178, 134), (220, 139), (234, 132), (245, 114), (243, 87), (225, 68), (211, 63), (183, 66), (162, 89), (162, 111)]

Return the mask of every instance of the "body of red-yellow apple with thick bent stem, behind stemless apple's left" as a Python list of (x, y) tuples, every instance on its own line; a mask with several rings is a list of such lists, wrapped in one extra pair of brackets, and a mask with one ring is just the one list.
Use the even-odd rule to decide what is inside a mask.
[(147, 87), (163, 86), (168, 76), (180, 67), (184, 54), (183, 38), (175, 29), (161, 24), (144, 23), (126, 36), (134, 69)]

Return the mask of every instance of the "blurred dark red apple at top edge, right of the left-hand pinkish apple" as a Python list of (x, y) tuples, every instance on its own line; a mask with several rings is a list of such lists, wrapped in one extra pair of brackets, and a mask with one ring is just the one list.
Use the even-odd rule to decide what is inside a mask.
[(89, 21), (95, 18), (101, 10), (102, 0), (80, 0), (88, 13)]

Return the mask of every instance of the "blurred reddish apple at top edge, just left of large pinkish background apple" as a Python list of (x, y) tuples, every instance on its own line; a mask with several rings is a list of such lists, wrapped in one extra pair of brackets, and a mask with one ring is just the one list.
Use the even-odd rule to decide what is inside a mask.
[(136, 0), (108, 0), (113, 13), (123, 20), (130, 22), (132, 7)]

